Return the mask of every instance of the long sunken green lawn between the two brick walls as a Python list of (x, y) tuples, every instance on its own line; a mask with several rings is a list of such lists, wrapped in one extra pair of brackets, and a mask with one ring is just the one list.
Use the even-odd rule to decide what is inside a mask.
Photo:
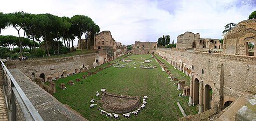
[[(157, 58), (160, 58), (156, 55)], [(181, 103), (183, 109), (187, 115), (194, 115), (197, 113), (196, 106), (188, 106), (189, 97), (178, 97), (179, 93), (174, 86), (174, 82), (170, 82), (167, 73), (163, 72), (155, 59), (151, 58), (151, 55), (130, 55), (132, 62), (124, 63), (120, 61), (120, 64), (126, 64), (124, 68), (116, 68), (114, 66), (101, 70), (99, 73), (94, 74), (87, 79), (82, 79), (82, 75), (85, 73), (79, 73), (66, 78), (61, 78), (56, 81), (56, 86), (59, 83), (65, 83), (67, 89), (61, 90), (56, 88), (56, 97), (61, 103), (68, 104), (70, 107), (84, 116), (88, 120), (114, 120), (106, 116), (100, 115), (100, 111), (97, 110), (100, 106), (100, 98), (96, 97), (96, 91), (100, 91), (102, 88), (106, 88), (107, 92), (117, 95), (131, 95), (142, 97), (148, 96), (146, 108), (139, 112), (139, 115), (132, 115), (125, 120), (178, 120), (182, 117), (182, 113), (179, 111), (177, 102)], [(144, 62), (142, 59), (151, 58), (150, 63)], [(116, 60), (113, 60), (116, 61)], [(112, 61), (112, 62), (113, 62)], [(135, 62), (135, 63), (134, 63)], [(183, 77), (183, 73), (174, 69), (169, 63), (165, 62), (168, 69), (178, 77), (186, 81), (186, 85), (189, 86), (189, 77)], [(142, 69), (140, 65), (156, 65), (154, 69)], [(107, 63), (89, 70), (94, 72), (100, 67), (105, 67)], [(137, 67), (137, 68), (134, 68)], [(81, 79), (81, 82), (75, 81), (75, 79)], [(67, 82), (73, 80), (75, 85), (69, 86)], [(98, 105), (92, 109), (89, 108), (92, 98), (96, 98)], [(94, 103), (95, 104), (95, 103)], [(117, 120), (123, 120), (121, 116)]]

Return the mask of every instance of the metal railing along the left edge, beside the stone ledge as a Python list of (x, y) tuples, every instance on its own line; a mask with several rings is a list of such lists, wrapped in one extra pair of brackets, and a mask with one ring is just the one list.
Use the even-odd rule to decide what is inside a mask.
[(43, 120), (2, 60), (0, 68), (9, 120)]

